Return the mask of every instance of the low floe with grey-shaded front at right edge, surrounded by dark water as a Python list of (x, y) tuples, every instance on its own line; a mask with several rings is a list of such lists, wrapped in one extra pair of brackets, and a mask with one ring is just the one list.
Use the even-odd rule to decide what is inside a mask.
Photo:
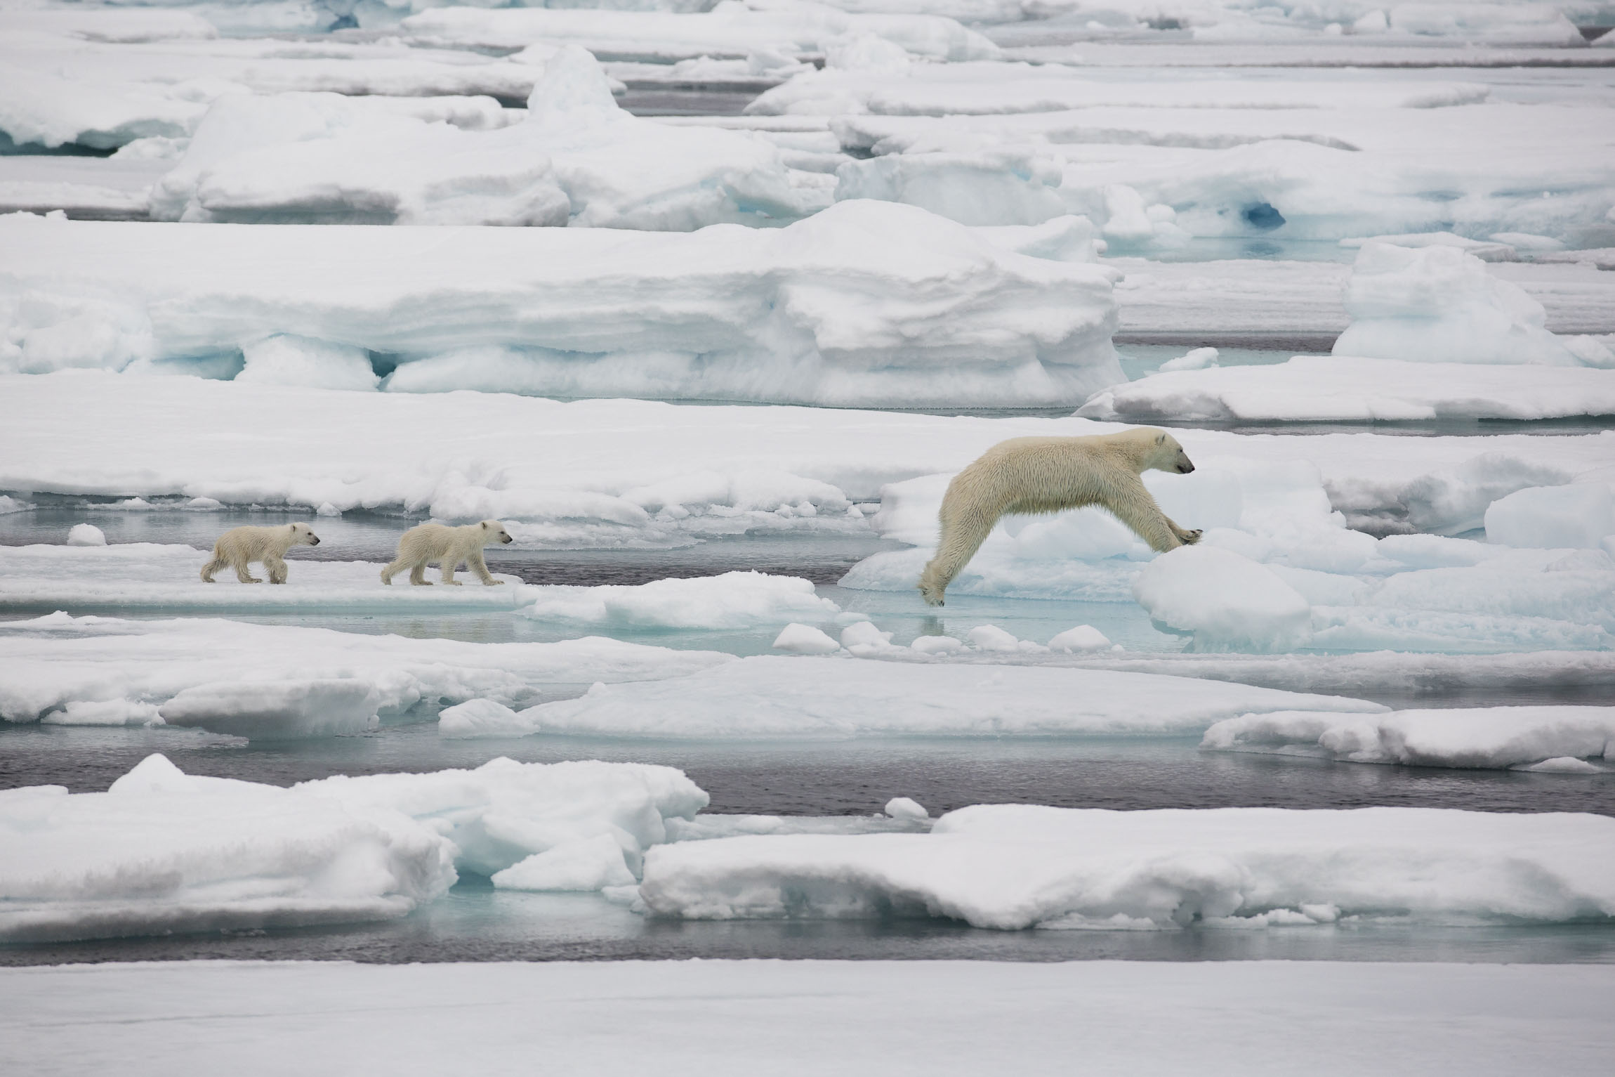
[[(1324, 756), (1410, 767), (1534, 769), (1570, 757), (1615, 757), (1615, 707), (1478, 707), (1395, 710), (1342, 720), (1334, 714), (1250, 714), (1218, 722), (1202, 748)], [(1544, 770), (1558, 770), (1546, 767)], [(1565, 769), (1597, 773), (1581, 764)]]

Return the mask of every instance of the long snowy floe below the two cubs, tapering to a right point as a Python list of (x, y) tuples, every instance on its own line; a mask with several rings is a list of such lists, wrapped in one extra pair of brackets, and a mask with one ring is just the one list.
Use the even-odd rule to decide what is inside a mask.
[[(249, 625), (233, 620), (120, 620), (50, 614), (0, 623), (0, 719), (74, 720), (87, 704), (123, 707), (150, 723), (160, 704), (176, 722), (263, 735), (308, 735), (328, 704), (360, 731), (376, 714), (468, 699), (531, 702), (551, 685), (673, 677), (732, 660), (714, 651), (673, 651), (599, 636), (559, 643), (460, 643), (370, 636), (328, 628)], [(263, 717), (278, 693), (313, 681), (312, 710), (297, 699)], [(331, 681), (347, 681), (338, 689)], [(323, 693), (323, 698), (321, 698)], [(357, 693), (363, 702), (347, 699)], [(338, 698), (341, 696), (341, 698)], [(79, 720), (84, 712), (79, 710)], [(254, 717), (257, 715), (257, 717)], [(302, 715), (302, 717), (299, 717)], [(110, 720), (102, 717), (102, 720)]]

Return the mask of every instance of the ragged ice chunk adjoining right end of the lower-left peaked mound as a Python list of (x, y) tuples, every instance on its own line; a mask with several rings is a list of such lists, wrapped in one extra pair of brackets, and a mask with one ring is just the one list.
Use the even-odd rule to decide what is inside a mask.
[[(404, 812), (449, 838), (455, 865), (480, 875), (599, 836), (610, 838), (619, 861), (638, 872), (643, 851), (667, 838), (669, 819), (691, 819), (707, 806), (707, 794), (682, 770), (598, 761), (522, 764), (501, 757), (475, 770), (338, 775), (294, 790), (355, 809)], [(588, 848), (573, 844), (535, 865), (533, 875), (570, 874), (578, 880), (575, 872), (588, 862)]]

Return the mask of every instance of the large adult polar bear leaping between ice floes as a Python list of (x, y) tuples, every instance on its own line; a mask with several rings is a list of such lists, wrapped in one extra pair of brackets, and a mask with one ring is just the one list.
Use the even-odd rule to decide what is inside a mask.
[(1013, 438), (1000, 441), (953, 476), (942, 497), (942, 541), (919, 576), (919, 593), (942, 606), (998, 517), (1009, 512), (1059, 512), (1100, 505), (1153, 549), (1200, 541), (1200, 531), (1172, 523), (1145, 489), (1143, 471), (1187, 475), (1195, 470), (1184, 447), (1164, 430), (1137, 426), (1089, 438)]

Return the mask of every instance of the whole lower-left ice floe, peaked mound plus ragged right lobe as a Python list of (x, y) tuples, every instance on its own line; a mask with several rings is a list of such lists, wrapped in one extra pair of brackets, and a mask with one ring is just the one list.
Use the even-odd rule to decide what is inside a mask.
[[(394, 919), (457, 869), (515, 869), (525, 888), (631, 883), (665, 820), (706, 804), (682, 772), (640, 764), (494, 759), (283, 790), (150, 756), (107, 793), (0, 793), (0, 941)], [(580, 872), (591, 859), (604, 882)]]

